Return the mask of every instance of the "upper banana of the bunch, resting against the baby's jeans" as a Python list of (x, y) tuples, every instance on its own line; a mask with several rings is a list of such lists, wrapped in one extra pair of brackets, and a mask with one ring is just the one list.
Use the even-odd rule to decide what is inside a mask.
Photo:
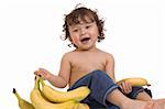
[(40, 81), (42, 84), (42, 94), (52, 102), (65, 102), (68, 100), (80, 101), (85, 99), (90, 92), (89, 88), (86, 86), (81, 86), (74, 90), (63, 92), (53, 89), (48, 85), (45, 85), (42, 78), (40, 78)]

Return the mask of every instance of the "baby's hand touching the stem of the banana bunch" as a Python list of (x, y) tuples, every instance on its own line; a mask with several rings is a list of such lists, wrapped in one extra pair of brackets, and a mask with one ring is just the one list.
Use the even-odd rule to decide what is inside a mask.
[(41, 76), (43, 79), (48, 79), (51, 73), (44, 68), (38, 68), (38, 70), (34, 72), (34, 75)]

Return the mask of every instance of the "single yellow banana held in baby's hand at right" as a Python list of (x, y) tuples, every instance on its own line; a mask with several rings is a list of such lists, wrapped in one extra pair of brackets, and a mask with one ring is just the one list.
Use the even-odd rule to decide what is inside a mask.
[(128, 81), (132, 86), (151, 86), (150, 84), (147, 84), (147, 80), (145, 78), (141, 78), (141, 77), (124, 78), (117, 81), (117, 84), (120, 85), (122, 81)]

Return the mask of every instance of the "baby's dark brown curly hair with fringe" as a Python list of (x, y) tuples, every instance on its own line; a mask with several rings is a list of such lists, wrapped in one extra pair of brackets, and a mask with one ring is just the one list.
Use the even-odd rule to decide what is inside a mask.
[(73, 24), (79, 24), (82, 20), (84, 22), (88, 22), (86, 20), (86, 17), (88, 17), (91, 22), (96, 22), (99, 31), (98, 42), (102, 41), (105, 39), (103, 33), (103, 25), (105, 21), (99, 19), (96, 11), (92, 11), (90, 9), (87, 9), (85, 7), (77, 8), (73, 10), (69, 14), (65, 15), (65, 23), (63, 25), (63, 32), (65, 33), (64, 40), (70, 40), (68, 26)]

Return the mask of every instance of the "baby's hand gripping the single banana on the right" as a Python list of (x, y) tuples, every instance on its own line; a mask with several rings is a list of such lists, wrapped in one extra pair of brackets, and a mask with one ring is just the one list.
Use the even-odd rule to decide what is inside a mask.
[(123, 94), (130, 94), (132, 91), (132, 86), (128, 81), (122, 81), (119, 86)]

